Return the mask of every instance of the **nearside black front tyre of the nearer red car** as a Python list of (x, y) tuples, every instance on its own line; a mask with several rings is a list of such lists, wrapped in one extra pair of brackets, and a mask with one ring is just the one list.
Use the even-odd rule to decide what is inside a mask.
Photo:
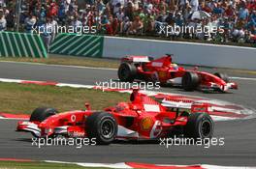
[(86, 132), (88, 138), (96, 138), (97, 145), (109, 145), (117, 134), (117, 123), (112, 114), (95, 112), (86, 120)]

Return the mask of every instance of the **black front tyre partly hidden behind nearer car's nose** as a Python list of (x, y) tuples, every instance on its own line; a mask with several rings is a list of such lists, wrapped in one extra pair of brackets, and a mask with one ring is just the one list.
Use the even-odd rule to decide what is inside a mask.
[(49, 116), (55, 115), (57, 112), (58, 111), (54, 108), (38, 107), (32, 112), (29, 121), (43, 122), (48, 119)]

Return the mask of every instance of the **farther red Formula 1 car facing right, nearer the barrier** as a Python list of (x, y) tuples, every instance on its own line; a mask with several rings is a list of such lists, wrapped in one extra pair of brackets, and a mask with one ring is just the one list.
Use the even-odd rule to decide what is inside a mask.
[(135, 79), (159, 82), (160, 85), (171, 83), (181, 85), (185, 91), (211, 89), (226, 92), (228, 89), (238, 89), (238, 85), (229, 82), (225, 73), (211, 74), (205, 71), (185, 70), (172, 62), (172, 56), (167, 54), (153, 60), (147, 56), (128, 56), (122, 58), (118, 69), (118, 78), (124, 82)]

